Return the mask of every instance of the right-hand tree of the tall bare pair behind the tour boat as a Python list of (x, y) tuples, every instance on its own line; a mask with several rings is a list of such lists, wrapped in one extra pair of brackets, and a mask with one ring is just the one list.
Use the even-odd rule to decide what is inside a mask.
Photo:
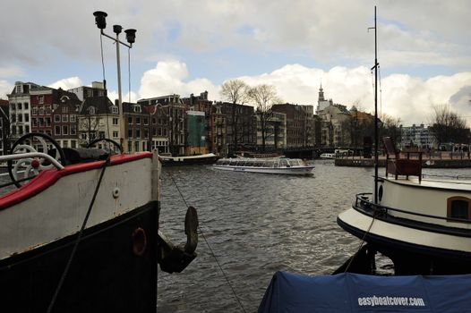
[(248, 96), (255, 106), (261, 131), (261, 149), (265, 151), (265, 141), (268, 137), (267, 126), (271, 117), (271, 106), (282, 102), (277, 95), (277, 90), (271, 85), (258, 85), (249, 90)]

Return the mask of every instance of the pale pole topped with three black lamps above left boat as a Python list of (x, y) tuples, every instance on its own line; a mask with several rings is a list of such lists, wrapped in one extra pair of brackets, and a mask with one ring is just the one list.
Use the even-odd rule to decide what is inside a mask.
[[(102, 36), (110, 38), (116, 43), (116, 64), (117, 64), (117, 83), (118, 83), (118, 110), (119, 110), (119, 143), (121, 147), (124, 147), (124, 112), (123, 112), (123, 98), (121, 97), (121, 63), (119, 59), (119, 45), (121, 44), (125, 47), (132, 48), (133, 43), (136, 39), (136, 30), (129, 29), (124, 30), (126, 33), (126, 41), (128, 44), (119, 40), (119, 34), (123, 30), (121, 25), (113, 25), (113, 32), (116, 34), (116, 38), (108, 36), (103, 30), (107, 28), (107, 13), (96, 11), (93, 13), (95, 16), (95, 24), (97, 24), (98, 29)], [(131, 90), (129, 90), (131, 92)]]

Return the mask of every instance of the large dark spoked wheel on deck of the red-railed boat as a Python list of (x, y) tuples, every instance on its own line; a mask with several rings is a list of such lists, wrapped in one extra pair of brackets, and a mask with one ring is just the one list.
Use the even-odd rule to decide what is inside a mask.
[[(38, 148), (34, 148), (33, 144)], [(53, 148), (48, 147), (52, 145)], [(57, 161), (64, 164), (65, 156), (63, 149), (59, 146), (56, 140), (50, 136), (40, 132), (30, 132), (21, 136), (13, 144), (10, 154), (29, 153), (29, 152), (43, 152), (49, 156), (54, 157)], [(40, 171), (54, 168), (55, 165), (51, 164), (45, 157), (24, 157), (13, 161), (8, 161), (8, 173), (16, 187), (21, 187), (21, 182), (28, 181), (36, 176)]]

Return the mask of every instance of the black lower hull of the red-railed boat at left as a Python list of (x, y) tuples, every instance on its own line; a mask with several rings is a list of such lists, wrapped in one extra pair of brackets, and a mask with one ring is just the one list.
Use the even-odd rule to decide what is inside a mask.
[[(158, 211), (152, 201), (86, 229), (52, 312), (154, 312)], [(0, 261), (0, 295), (8, 312), (47, 311), (76, 238)]]

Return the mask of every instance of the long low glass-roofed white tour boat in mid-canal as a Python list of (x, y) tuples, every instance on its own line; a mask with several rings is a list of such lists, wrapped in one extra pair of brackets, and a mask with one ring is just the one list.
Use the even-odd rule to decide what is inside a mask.
[(309, 175), (314, 165), (306, 165), (302, 159), (287, 157), (270, 158), (221, 158), (213, 165), (219, 170), (251, 173), (284, 173)]

